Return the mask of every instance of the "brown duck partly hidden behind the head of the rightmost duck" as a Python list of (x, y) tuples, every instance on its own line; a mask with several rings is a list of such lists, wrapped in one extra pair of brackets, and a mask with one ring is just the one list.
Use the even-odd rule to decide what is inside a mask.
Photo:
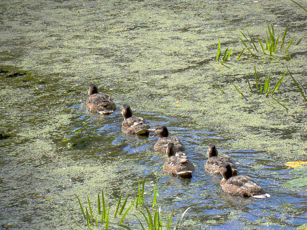
[(205, 170), (210, 173), (215, 173), (222, 162), (228, 162), (231, 165), (232, 174), (237, 174), (237, 166), (233, 163), (229, 156), (218, 155), (218, 151), (214, 144), (208, 145), (208, 160), (205, 164)]

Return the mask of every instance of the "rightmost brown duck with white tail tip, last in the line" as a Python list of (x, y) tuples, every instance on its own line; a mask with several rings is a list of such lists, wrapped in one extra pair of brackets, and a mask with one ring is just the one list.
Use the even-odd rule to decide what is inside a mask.
[(228, 162), (220, 163), (216, 170), (216, 173), (218, 172), (223, 176), (220, 186), (225, 193), (242, 197), (270, 197), (270, 194), (265, 193), (263, 188), (249, 176), (233, 176), (231, 165)]

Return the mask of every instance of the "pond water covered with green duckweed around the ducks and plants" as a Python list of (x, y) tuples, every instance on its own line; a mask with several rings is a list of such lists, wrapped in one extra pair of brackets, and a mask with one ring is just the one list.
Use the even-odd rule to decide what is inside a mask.
[[(132, 194), (144, 177), (157, 182), (157, 206), (165, 212), (175, 205), (178, 217), (192, 206), (181, 229), (307, 223), (306, 187), (282, 187), (300, 177), (284, 163), (306, 160), (306, 102), (289, 75), (274, 94), (287, 111), (272, 97), (251, 93), (246, 80), (255, 90), (255, 64), (261, 84), (271, 68), (274, 86), (286, 67), (306, 82), (307, 37), (294, 43), (306, 34), (307, 13), (294, 3), (3, 0), (0, 20), (1, 228), (68, 229), (60, 218), (75, 228), (64, 204), (86, 227), (75, 194), (83, 201), (95, 200), (102, 188)], [(294, 33), (296, 41), (287, 55), (236, 58), (244, 48), (239, 30), (265, 41), (267, 23), (282, 36), (289, 22), (286, 43)], [(222, 52), (233, 46), (225, 65), (216, 61), (218, 38)], [(86, 111), (89, 83), (112, 96), (115, 113)], [(153, 151), (157, 137), (120, 132), (124, 103), (182, 140), (196, 169), (191, 180), (162, 173), (165, 156)], [(211, 143), (271, 197), (223, 193), (221, 177), (204, 171)], [(139, 229), (134, 222), (131, 228)]]

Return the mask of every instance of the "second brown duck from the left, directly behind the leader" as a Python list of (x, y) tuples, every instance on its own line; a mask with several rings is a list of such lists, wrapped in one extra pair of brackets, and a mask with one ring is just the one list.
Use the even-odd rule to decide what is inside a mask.
[(146, 121), (142, 117), (132, 117), (132, 110), (129, 105), (125, 104), (122, 106), (122, 116), (124, 117), (122, 132), (140, 136), (149, 135), (148, 129), (150, 129), (150, 125), (146, 124)]

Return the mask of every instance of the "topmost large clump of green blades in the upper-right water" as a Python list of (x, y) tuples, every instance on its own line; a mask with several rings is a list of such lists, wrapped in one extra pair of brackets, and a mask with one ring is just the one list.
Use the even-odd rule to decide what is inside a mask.
[[(262, 41), (257, 36), (255, 36), (255, 38), (258, 40), (258, 43), (260, 44), (260, 47), (261, 47), (261, 50), (262, 50), (263, 54), (266, 54), (266, 50), (267, 50), (268, 54), (270, 54), (270, 56), (272, 56), (274, 53), (277, 52), (278, 47), (279, 47), (279, 51), (282, 50), (282, 48), (285, 46), (285, 38), (286, 38), (286, 34), (287, 34), (287, 31), (288, 31), (289, 25), (290, 25), (290, 23), (288, 23), (288, 25), (287, 25), (284, 33), (283, 33), (283, 36), (282, 36), (282, 39), (281, 39), (281, 42), (280, 42), (280, 46), (279, 46), (279, 37), (280, 36), (278, 35), (276, 37), (273, 25), (269, 26), (269, 24), (266, 24), (266, 41), (265, 41), (265, 46), (263, 45)], [(245, 48), (243, 48), (241, 50), (241, 52), (239, 53), (239, 56), (237, 57), (237, 59), (239, 59), (241, 57), (241, 55), (243, 54), (244, 50), (246, 50), (246, 49), (251, 54), (255, 54), (255, 53), (259, 53), (260, 52), (260, 51), (258, 51), (257, 46), (256, 46), (252, 36), (248, 32), (248, 30), (246, 30), (246, 31), (247, 31), (247, 34), (248, 34), (248, 38), (247, 38), (247, 36), (241, 30), (240, 30), (240, 33), (242, 34), (243, 38), (246, 40), (246, 42), (249, 45), (247, 45), (246, 42), (241, 37), (238, 36), (238, 38), (241, 40), (241, 42), (243, 43)], [(287, 53), (287, 51), (290, 48), (291, 44), (294, 42), (294, 35), (295, 35), (295, 33), (291, 37), (291, 39), (289, 41), (289, 44), (287, 45), (284, 53)], [(296, 45), (298, 45), (301, 42), (303, 37), (298, 40)], [(253, 49), (253, 51), (251, 51), (251, 49)]]

